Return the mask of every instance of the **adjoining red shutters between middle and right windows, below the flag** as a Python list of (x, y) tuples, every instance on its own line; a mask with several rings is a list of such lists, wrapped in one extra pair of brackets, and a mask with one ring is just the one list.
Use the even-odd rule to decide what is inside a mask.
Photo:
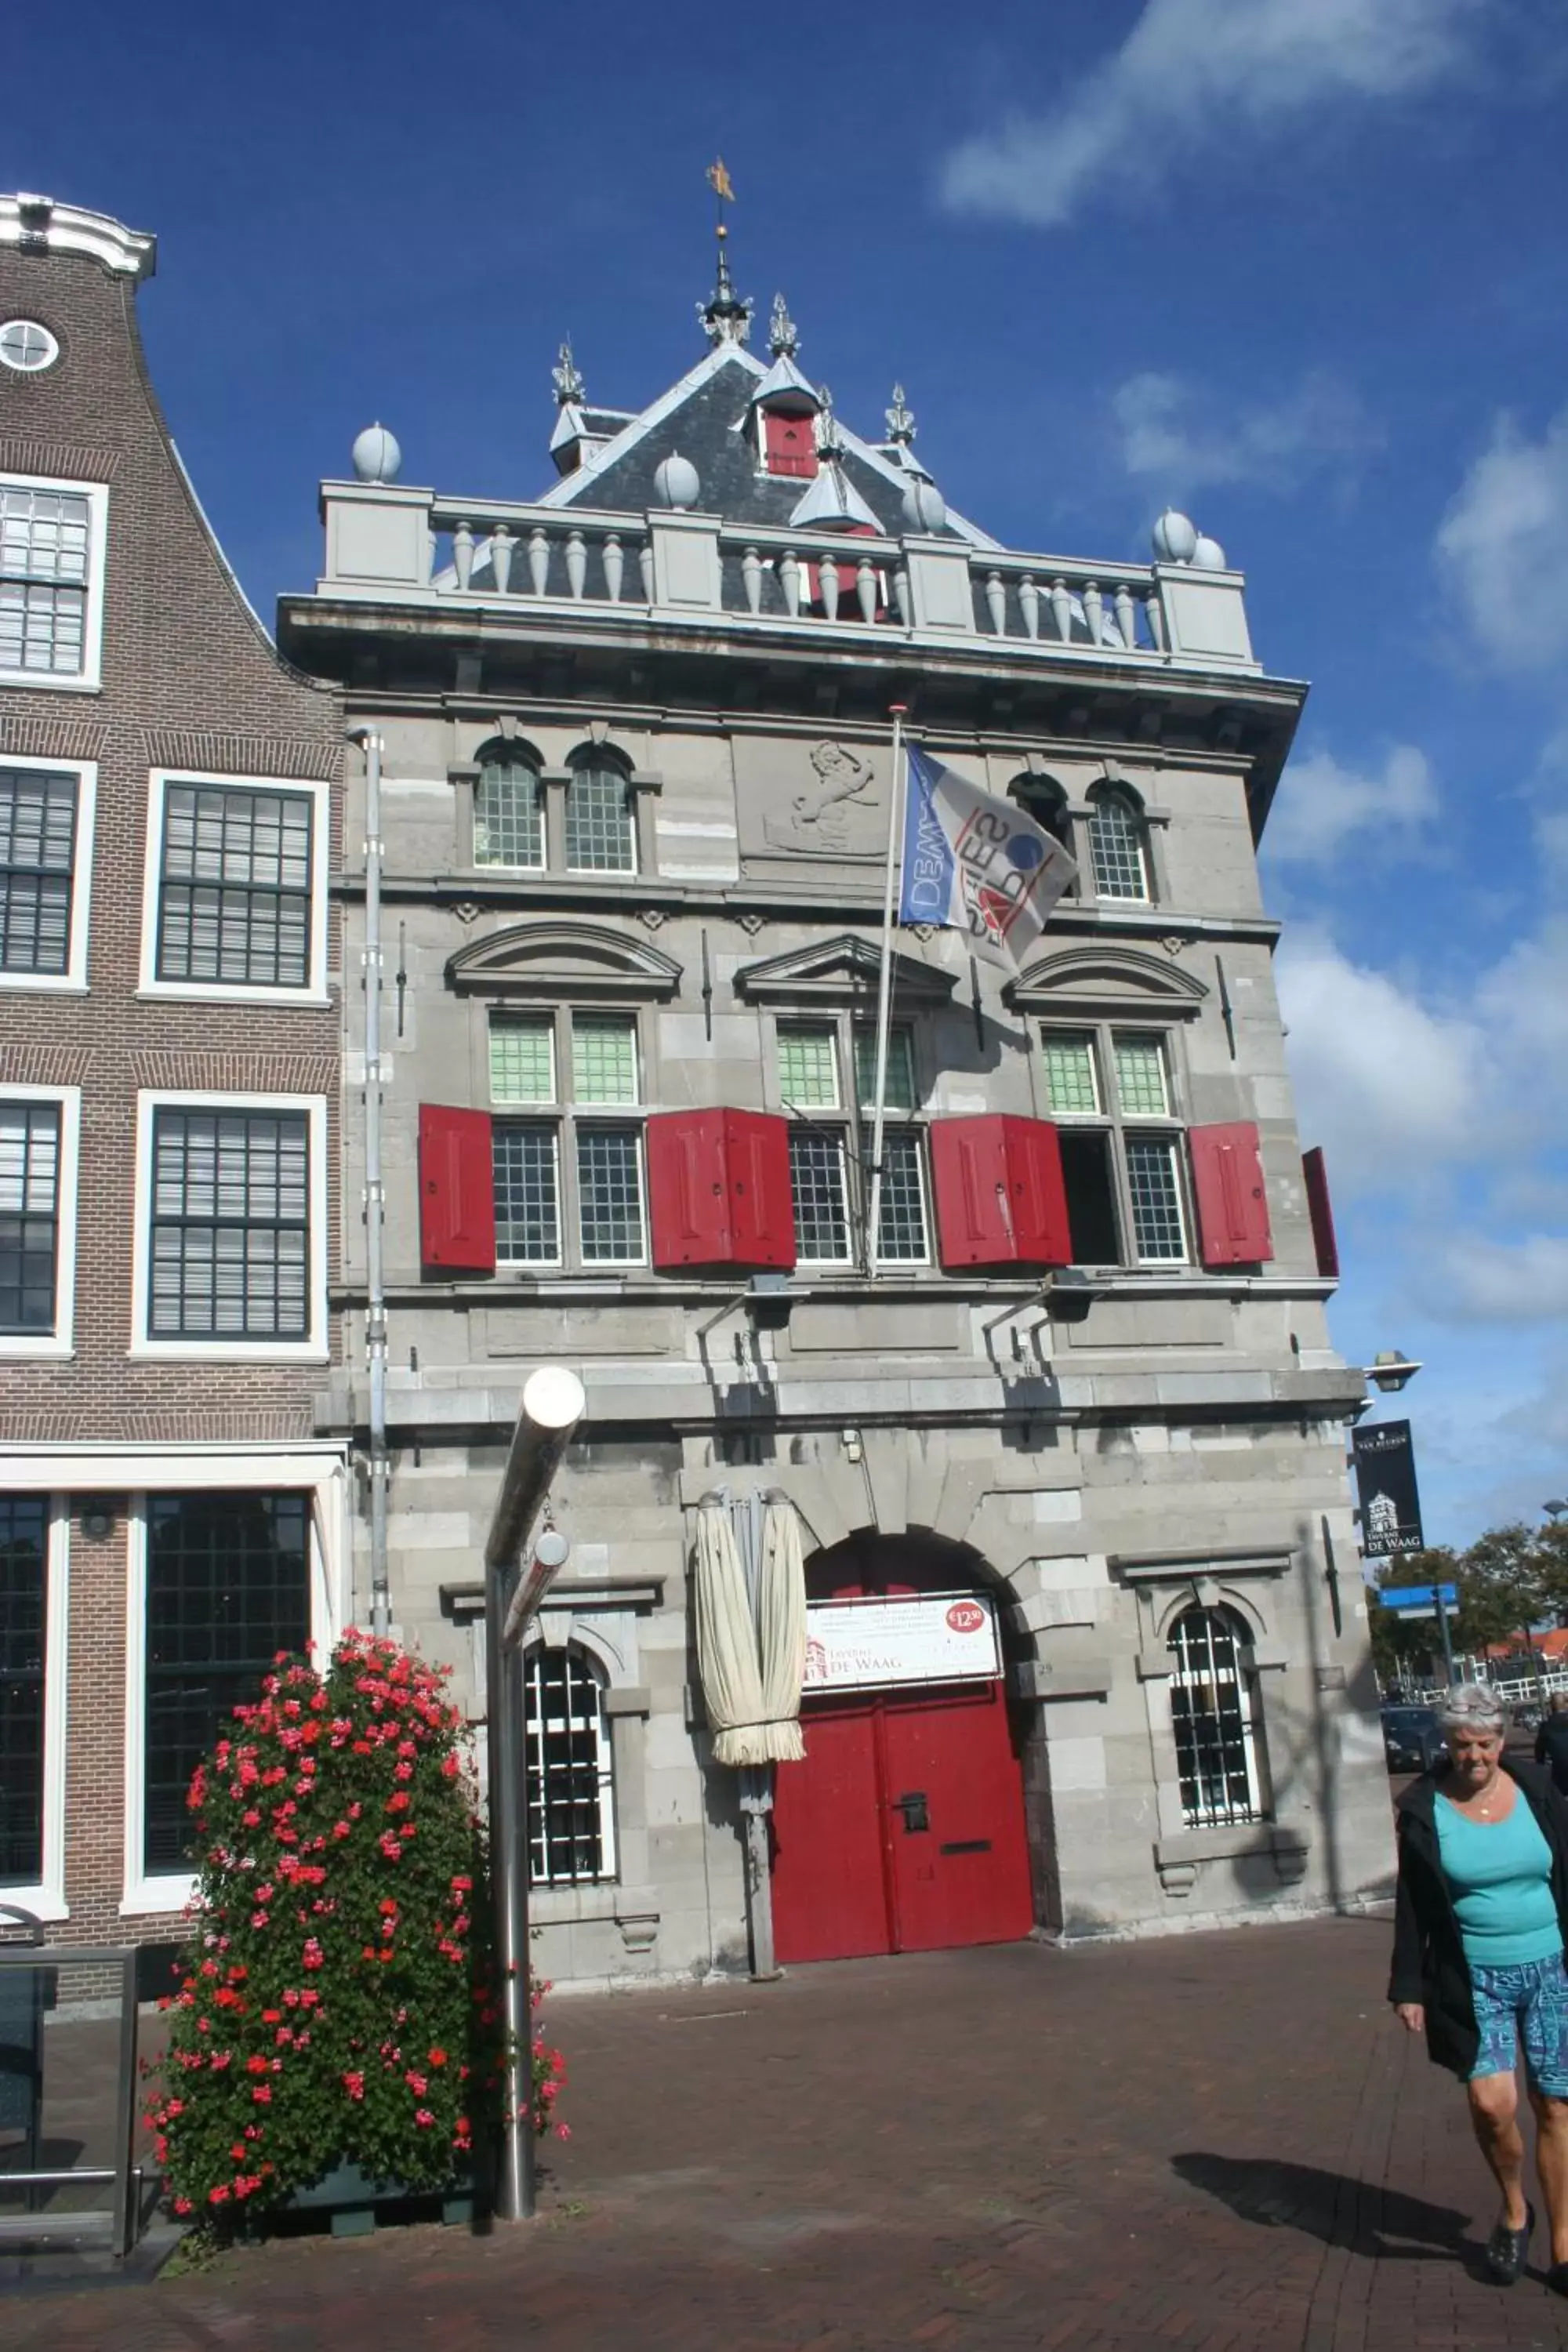
[(943, 1265), (1070, 1265), (1063, 1150), (1048, 1120), (931, 1122)]

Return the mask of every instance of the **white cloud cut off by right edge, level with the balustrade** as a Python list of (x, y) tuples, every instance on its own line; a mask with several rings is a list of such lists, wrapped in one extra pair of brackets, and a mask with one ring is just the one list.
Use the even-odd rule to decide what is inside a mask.
[(1500, 668), (1552, 668), (1568, 654), (1568, 409), (1537, 442), (1497, 419), (1443, 515), (1436, 560)]

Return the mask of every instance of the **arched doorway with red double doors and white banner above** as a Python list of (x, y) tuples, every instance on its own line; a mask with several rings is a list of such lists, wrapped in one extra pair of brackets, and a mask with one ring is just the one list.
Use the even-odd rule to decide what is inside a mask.
[(1004, 1623), (938, 1536), (851, 1536), (806, 1562), (804, 1764), (773, 1795), (778, 1959), (1030, 1933), (1030, 1846)]

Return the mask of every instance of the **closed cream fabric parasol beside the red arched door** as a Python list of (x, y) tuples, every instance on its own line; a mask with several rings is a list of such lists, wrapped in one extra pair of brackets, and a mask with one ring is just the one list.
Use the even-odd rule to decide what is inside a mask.
[(698, 1510), (696, 1658), (719, 1764), (795, 1764), (804, 1757), (806, 1578), (790, 1503), (769, 1503), (762, 1517), (757, 1616), (729, 1510), (722, 1503)]

